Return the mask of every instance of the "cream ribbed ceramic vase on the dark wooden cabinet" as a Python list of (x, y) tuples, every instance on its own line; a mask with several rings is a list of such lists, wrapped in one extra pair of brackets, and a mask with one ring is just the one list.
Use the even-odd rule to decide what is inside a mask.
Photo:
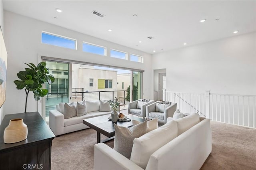
[(4, 143), (16, 143), (28, 137), (28, 127), (23, 119), (12, 119), (4, 129)]

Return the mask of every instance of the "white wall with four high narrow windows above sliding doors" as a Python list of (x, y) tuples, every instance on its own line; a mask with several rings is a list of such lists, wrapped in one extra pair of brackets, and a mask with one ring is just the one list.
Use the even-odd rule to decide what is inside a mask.
[[(58, 21), (56, 21), (58, 22)], [(116, 65), (120, 67), (128, 67), (134, 69), (145, 70), (144, 75), (151, 75), (151, 55), (118, 45), (112, 42), (94, 38), (85, 34), (81, 34), (72, 30), (68, 30), (53, 24), (34, 20), (25, 16), (14, 14), (12, 12), (4, 11), (4, 26), (5, 26), (5, 41), (6, 49), (8, 51), (8, 70), (7, 70), (7, 91), (6, 103), (4, 104), (4, 113), (22, 113), (25, 105), (24, 90), (17, 90), (15, 84), (17, 73), (24, 70), (23, 62), (38, 63), (40, 56), (56, 57), (62, 59), (71, 59), (76, 61), (86, 61), (91, 63), (99, 63), (106, 65)], [(62, 36), (74, 38), (78, 41), (77, 50), (65, 49), (52, 45), (41, 43), (41, 32), (51, 32)], [(100, 56), (82, 51), (82, 41), (91, 42), (102, 45), (107, 48), (108, 56)], [(130, 53), (144, 56), (144, 63), (134, 61), (126, 61), (109, 57), (110, 48), (118, 49), (120, 51), (127, 51)], [(129, 58), (128, 58), (129, 59)], [(150, 76), (144, 76), (144, 98), (153, 98), (153, 86)], [(15, 107), (13, 107), (15, 101)], [(18, 104), (17, 104), (18, 103)], [(28, 97), (28, 112), (37, 111), (37, 102), (34, 100), (33, 93)]]

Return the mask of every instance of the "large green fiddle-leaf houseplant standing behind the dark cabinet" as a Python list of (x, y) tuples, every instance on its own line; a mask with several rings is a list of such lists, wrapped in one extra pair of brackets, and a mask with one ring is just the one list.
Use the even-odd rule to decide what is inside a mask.
[(15, 80), (17, 89), (24, 89), (26, 92), (26, 104), (25, 113), (27, 110), (27, 101), (29, 91), (33, 91), (34, 98), (36, 101), (40, 100), (40, 97), (47, 95), (48, 90), (43, 89), (43, 84), (51, 84), (54, 82), (55, 78), (49, 73), (49, 69), (46, 68), (46, 62), (41, 62), (37, 66), (33, 63), (24, 63), (30, 68), (25, 68), (25, 71), (20, 71), (17, 76), (20, 80)]

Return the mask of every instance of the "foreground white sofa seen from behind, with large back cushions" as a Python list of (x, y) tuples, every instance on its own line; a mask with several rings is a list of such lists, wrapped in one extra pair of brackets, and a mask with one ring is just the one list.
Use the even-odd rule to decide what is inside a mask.
[(211, 151), (210, 119), (191, 114), (135, 138), (130, 160), (95, 144), (94, 170), (199, 170)]

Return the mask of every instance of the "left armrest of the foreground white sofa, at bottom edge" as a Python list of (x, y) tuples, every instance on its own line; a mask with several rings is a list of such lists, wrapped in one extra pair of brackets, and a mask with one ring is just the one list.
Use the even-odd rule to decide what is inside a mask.
[(94, 145), (94, 170), (143, 170), (104, 143)]

